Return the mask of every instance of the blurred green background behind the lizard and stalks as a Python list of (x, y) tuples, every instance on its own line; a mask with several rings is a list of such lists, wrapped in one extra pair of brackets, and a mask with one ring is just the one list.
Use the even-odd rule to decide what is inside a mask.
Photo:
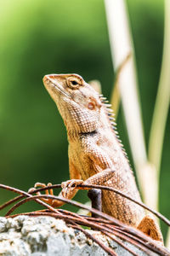
[[(161, 0), (127, 1), (146, 144), (161, 68), (163, 4)], [(66, 131), (42, 77), (79, 73), (87, 81), (99, 79), (104, 95), (111, 96), (114, 74), (104, 2), (0, 0), (0, 17), (0, 183), (24, 190), (37, 181), (61, 183), (69, 178)], [(168, 117), (167, 127), (169, 122)], [(117, 123), (132, 162), (122, 108)], [(169, 153), (166, 132), (160, 211), (167, 218)], [(0, 204), (13, 196), (1, 189)], [(76, 199), (87, 201), (86, 192), (79, 192)], [(39, 207), (29, 203), (20, 211), (35, 208)], [(165, 226), (163, 230), (165, 234)]]

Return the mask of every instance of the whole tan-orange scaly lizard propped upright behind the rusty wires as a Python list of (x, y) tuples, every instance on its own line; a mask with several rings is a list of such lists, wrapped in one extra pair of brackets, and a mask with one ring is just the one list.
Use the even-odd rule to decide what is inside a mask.
[[(64, 120), (69, 142), (71, 179), (62, 183), (59, 195), (71, 199), (77, 193), (78, 184), (98, 184), (119, 189), (141, 201), (127, 154), (117, 136), (111, 105), (107, 104), (106, 98), (74, 73), (45, 75), (43, 84)], [(36, 183), (35, 188), (37, 186), (45, 184)], [(50, 194), (53, 195), (52, 189)], [(53, 207), (64, 204), (51, 199), (44, 201)], [(138, 228), (156, 241), (163, 241), (156, 219), (121, 195), (102, 191), (102, 212)]]

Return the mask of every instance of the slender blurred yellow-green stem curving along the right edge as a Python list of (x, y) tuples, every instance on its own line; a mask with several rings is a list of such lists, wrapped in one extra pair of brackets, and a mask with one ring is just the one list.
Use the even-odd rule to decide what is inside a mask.
[[(161, 76), (156, 96), (156, 106), (154, 109), (149, 141), (149, 161), (156, 167), (156, 178), (159, 180), (161, 153), (167, 113), (170, 102), (170, 1), (165, 1), (165, 28), (164, 45), (161, 64)], [(157, 191), (158, 192), (158, 191)], [(158, 197), (158, 194), (157, 194)], [(167, 236), (167, 247), (170, 248), (170, 230)]]

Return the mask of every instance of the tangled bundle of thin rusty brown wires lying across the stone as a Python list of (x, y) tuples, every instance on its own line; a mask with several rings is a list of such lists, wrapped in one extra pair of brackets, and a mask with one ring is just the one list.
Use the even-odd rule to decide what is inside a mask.
[[(82, 186), (82, 187), (83, 188), (88, 187), (88, 189), (91, 189), (91, 188), (109, 189), (109, 190), (112, 190), (113, 192), (115, 192), (119, 195), (125, 196), (127, 198), (127, 195), (123, 195), (122, 192), (116, 191), (116, 189), (108, 188), (105, 186), (94, 186), (94, 185), (87, 186), (86, 185), (86, 186)], [(136, 247), (139, 247), (148, 255), (151, 255), (151, 252), (158, 253), (159, 255), (170, 255), (170, 252), (167, 250), (167, 248), (162, 247), (159, 243), (152, 240), (149, 236), (145, 236), (144, 233), (142, 233), (139, 230), (134, 229), (133, 227), (131, 227), (127, 224), (122, 224), (121, 221), (105, 214), (104, 212), (99, 212), (96, 209), (84, 206), (81, 203), (78, 203), (76, 201), (63, 199), (63, 198), (60, 198), (60, 197), (54, 196), (54, 195), (31, 195), (37, 191), (60, 188), (60, 185), (53, 185), (53, 186), (48, 186), (48, 187), (45, 187), (42, 189), (36, 189), (35, 191), (32, 191), (31, 193), (26, 193), (25, 191), (22, 191), (20, 189), (14, 189), (12, 187), (5, 186), (3, 184), (0, 184), (0, 188), (8, 189), (10, 191), (20, 194), (20, 196), (17, 196), (13, 200), (10, 200), (10, 201), (4, 203), (2, 206), (0, 206), (0, 210), (1, 210), (5, 207), (9, 206), (11, 203), (14, 203), (14, 202), (20, 200), (18, 203), (16, 203), (14, 205), (14, 207), (11, 207), (9, 209), (9, 211), (6, 214), (6, 218), (14, 218), (15, 216), (18, 216), (20, 214), (28, 215), (28, 216), (51, 216), (54, 218), (61, 218), (61, 219), (65, 220), (65, 223), (68, 224), (69, 226), (71, 226), (72, 228), (81, 230), (88, 238), (90, 238), (93, 241), (95, 241), (96, 243), (98, 243), (99, 247), (102, 247), (106, 253), (113, 255), (113, 256), (115, 256), (117, 254), (114, 252), (113, 249), (111, 249), (111, 247), (106, 247), (101, 241), (99, 241), (99, 239), (97, 239), (93, 235), (89, 234), (88, 231), (83, 230), (80, 227), (80, 225), (84, 225), (84, 226), (90, 227), (94, 230), (101, 231), (102, 234), (110, 237), (113, 241), (116, 241), (120, 246), (124, 247), (129, 253), (132, 253), (134, 256), (136, 256), (137, 254), (134, 253), (132, 249), (129, 249), (126, 245), (124, 245), (122, 243), (122, 241), (120, 241), (118, 238), (116, 238), (116, 236), (119, 238), (122, 238), (125, 241), (132, 243)], [(23, 199), (24, 197), (26, 197), (26, 198)], [(86, 217), (86, 216), (80, 216), (75, 212), (69, 212), (69, 211), (65, 211), (62, 209), (56, 210), (56, 209), (54, 209), (54, 207), (50, 207), (47, 203), (41, 201), (40, 199), (53, 199), (53, 200), (64, 201), (73, 206), (86, 209), (89, 212), (93, 212), (96, 215), (98, 215), (99, 218), (90, 218), (90, 217)], [(129, 196), (127, 199), (131, 200), (131, 198), (129, 198)], [(24, 213), (20, 213), (20, 214), (14, 214), (12, 216), (9, 215), (17, 207), (20, 207), (20, 205), (26, 203), (26, 201), (37, 201), (37, 203), (41, 204), (43, 207), (46, 207), (46, 209), (42, 210), (42, 211), (36, 211), (36, 212), (24, 212)], [(147, 208), (150, 211), (149, 207), (146, 207), (145, 205), (143, 206), (143, 204), (141, 204), (141, 203), (140, 203), (140, 206)], [(155, 211), (151, 210), (150, 212), (154, 213)], [(161, 215), (161, 214), (159, 212), (156, 212), (156, 216), (161, 218), (162, 215), (161, 215), (161, 217), (159, 215)], [(165, 222), (167, 224), (170, 224), (170, 221), (167, 218), (163, 217), (161, 219), (163, 221), (166, 220)]]

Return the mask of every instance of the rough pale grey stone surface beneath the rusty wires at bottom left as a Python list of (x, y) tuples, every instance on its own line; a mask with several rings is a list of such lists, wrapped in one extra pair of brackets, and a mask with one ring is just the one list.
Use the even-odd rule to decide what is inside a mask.
[[(132, 255), (116, 242), (105, 238), (99, 232), (88, 230), (106, 246), (115, 248), (121, 256)], [(127, 242), (125, 242), (127, 244)], [(146, 255), (128, 244), (139, 256)], [(105, 256), (107, 253), (81, 231), (66, 226), (60, 219), (51, 217), (18, 216), (0, 217), (1, 256)], [(153, 253), (153, 255), (156, 255)]]

